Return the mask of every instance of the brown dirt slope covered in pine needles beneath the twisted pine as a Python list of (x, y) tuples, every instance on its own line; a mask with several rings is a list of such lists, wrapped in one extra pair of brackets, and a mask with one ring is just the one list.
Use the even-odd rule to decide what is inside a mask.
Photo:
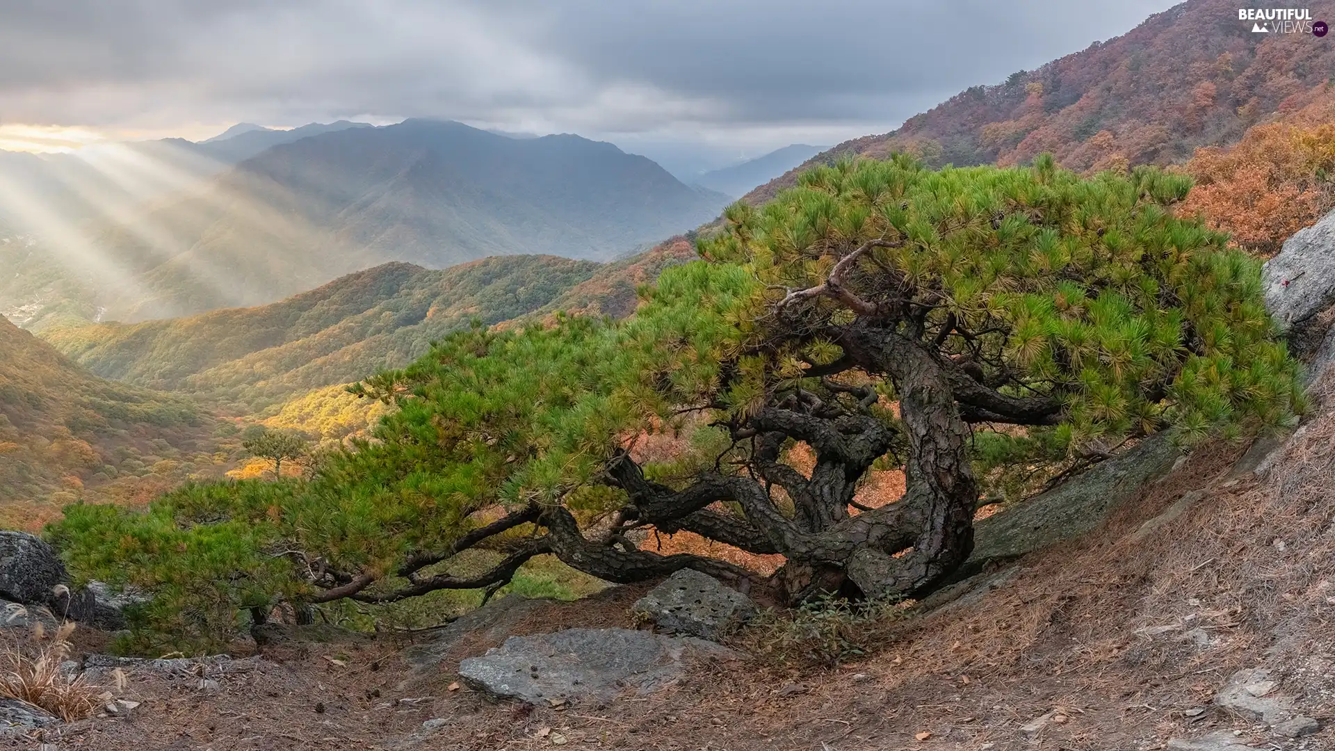
[[(655, 695), (554, 710), (451, 688), (457, 660), (403, 684), (391, 640), (286, 645), (216, 688), (131, 673), (117, 694), (139, 707), (48, 735), (44, 751), (1149, 751), (1222, 728), (1256, 748), (1335, 748), (1335, 417), (1306, 424), (1260, 477), (1230, 476), (1242, 450), (1197, 449), (977, 603), (874, 627), (878, 648), (856, 664), (698, 665)], [(1206, 497), (1128, 539), (1193, 489)], [(630, 625), (642, 591), (554, 604), (518, 632)], [(1270, 668), (1322, 731), (1279, 739), (1214, 707), (1251, 667)]]

